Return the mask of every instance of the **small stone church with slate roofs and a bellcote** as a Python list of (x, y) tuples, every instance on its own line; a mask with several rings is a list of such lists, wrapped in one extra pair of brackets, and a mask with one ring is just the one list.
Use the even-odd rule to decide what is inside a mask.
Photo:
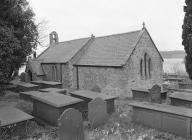
[(31, 80), (58, 81), (63, 88), (131, 96), (131, 88), (162, 84), (163, 58), (145, 26), (64, 42), (59, 42), (54, 31), (50, 46), (28, 60), (26, 72)]

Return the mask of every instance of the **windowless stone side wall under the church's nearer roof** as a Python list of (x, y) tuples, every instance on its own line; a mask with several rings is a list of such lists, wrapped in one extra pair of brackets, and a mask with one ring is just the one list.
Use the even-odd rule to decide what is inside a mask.
[(102, 91), (106, 88), (124, 89), (125, 73), (122, 68), (78, 67), (78, 71), (80, 89), (91, 90), (94, 86), (98, 86)]

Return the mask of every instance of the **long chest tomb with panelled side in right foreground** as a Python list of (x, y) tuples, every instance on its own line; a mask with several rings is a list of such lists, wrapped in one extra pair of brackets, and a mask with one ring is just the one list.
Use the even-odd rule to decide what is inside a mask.
[(133, 121), (136, 123), (185, 138), (192, 134), (192, 110), (189, 108), (149, 102), (130, 105), (133, 107)]

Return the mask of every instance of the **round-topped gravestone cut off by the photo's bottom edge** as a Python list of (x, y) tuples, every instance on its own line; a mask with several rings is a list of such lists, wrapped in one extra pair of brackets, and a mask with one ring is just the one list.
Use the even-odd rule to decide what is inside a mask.
[(84, 140), (82, 114), (73, 108), (66, 109), (58, 120), (59, 140)]

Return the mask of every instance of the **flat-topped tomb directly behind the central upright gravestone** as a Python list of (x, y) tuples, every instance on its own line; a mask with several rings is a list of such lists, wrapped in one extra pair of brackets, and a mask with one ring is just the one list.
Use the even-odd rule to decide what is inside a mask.
[(86, 104), (86, 108), (88, 108), (88, 103), (91, 100), (94, 100), (95, 98), (101, 98), (103, 100), (105, 100), (107, 102), (107, 113), (111, 114), (112, 112), (115, 111), (115, 99), (117, 99), (117, 96), (111, 96), (111, 95), (106, 95), (103, 93), (98, 93), (98, 92), (93, 92), (93, 91), (89, 91), (89, 90), (77, 90), (77, 91), (73, 91), (70, 92), (72, 97), (76, 97), (76, 98), (80, 98), (82, 100), (84, 100), (85, 104)]

